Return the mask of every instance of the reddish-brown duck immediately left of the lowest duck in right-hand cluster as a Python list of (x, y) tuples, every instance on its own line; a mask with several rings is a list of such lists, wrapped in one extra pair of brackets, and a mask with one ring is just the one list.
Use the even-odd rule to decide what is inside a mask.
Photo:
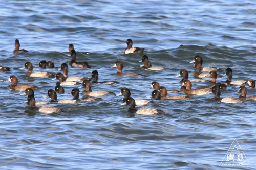
[(185, 93), (186, 94), (194, 94), (194, 95), (205, 95), (208, 94), (211, 91), (211, 88), (208, 87), (201, 87), (201, 88), (196, 88), (196, 89), (191, 89), (192, 88), (192, 83), (190, 80), (183, 80), (182, 86), (186, 86)]

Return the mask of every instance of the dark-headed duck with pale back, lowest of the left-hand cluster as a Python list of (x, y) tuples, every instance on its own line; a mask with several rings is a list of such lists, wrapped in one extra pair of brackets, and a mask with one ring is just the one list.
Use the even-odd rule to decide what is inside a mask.
[(50, 114), (50, 113), (60, 112), (61, 111), (60, 108), (57, 108), (57, 107), (54, 107), (54, 106), (41, 106), (41, 107), (40, 106), (36, 106), (35, 105), (35, 98), (34, 98), (33, 95), (29, 95), (27, 101), (29, 103), (29, 108), (31, 110), (39, 111), (41, 113)]

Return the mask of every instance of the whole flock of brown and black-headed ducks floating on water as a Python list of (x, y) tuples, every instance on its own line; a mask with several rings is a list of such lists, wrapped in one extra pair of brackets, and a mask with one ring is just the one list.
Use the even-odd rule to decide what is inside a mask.
[[(126, 41), (127, 47), (125, 48), (125, 54), (129, 53), (143, 53), (144, 48), (139, 48), (139, 47), (133, 47), (133, 41), (131, 39), (127, 39)], [(19, 50), (20, 43), (19, 40), (15, 40), (15, 50), (13, 51), (13, 54), (17, 53), (24, 53), (28, 52), (27, 50)], [(80, 68), (91, 68), (91, 66), (88, 64), (88, 62), (79, 62), (76, 59), (76, 51), (74, 49), (73, 44), (69, 44), (69, 52), (71, 55), (71, 61), (70, 61), (70, 66), (71, 67), (80, 67)], [(166, 70), (167, 68), (163, 67), (152, 67), (151, 61), (148, 59), (148, 56), (143, 55), (142, 59), (140, 62), (143, 62), (143, 65), (141, 65), (142, 68), (149, 69), (149, 70)], [(188, 71), (185, 69), (180, 70), (180, 74), (177, 75), (176, 77), (182, 77), (181, 79), (181, 88), (180, 91), (184, 92), (186, 96), (182, 95), (173, 95), (173, 96), (167, 96), (167, 93), (177, 93), (180, 91), (177, 90), (167, 90), (165, 87), (160, 86), (158, 82), (154, 81), (151, 84), (151, 88), (154, 88), (152, 91), (152, 94), (148, 97), (151, 97), (155, 100), (164, 100), (164, 99), (178, 99), (178, 100), (188, 100), (193, 95), (205, 95), (209, 93), (214, 93), (214, 100), (220, 101), (220, 102), (225, 102), (225, 103), (242, 103), (244, 100), (256, 100), (256, 96), (249, 96), (246, 97), (247, 94), (247, 89), (244, 85), (248, 85), (249, 88), (255, 88), (255, 81), (252, 79), (249, 79), (248, 81), (245, 80), (239, 80), (239, 81), (232, 81), (232, 76), (233, 72), (231, 68), (227, 68), (225, 70), (225, 75), (220, 75), (217, 74), (217, 72), (222, 71), (219, 68), (215, 67), (202, 67), (203, 64), (203, 58), (199, 55), (195, 56), (194, 60), (191, 61), (190, 63), (194, 63), (195, 67), (195, 72), (194, 72), (194, 77), (199, 78), (199, 79), (188, 79)], [(44, 68), (56, 68), (54, 66), (54, 63), (52, 61), (45, 61), (42, 60), (38, 64), (38, 66), (42, 69)], [(114, 66), (117, 68), (116, 75), (117, 76), (139, 76), (140, 74), (135, 74), (135, 73), (123, 73), (123, 64), (121, 61), (116, 61)], [(38, 72), (33, 72), (33, 65), (31, 62), (26, 62), (24, 64), (24, 69), (27, 69), (26, 76), (28, 77), (50, 77), (53, 78), (52, 80), (57, 79), (58, 82), (56, 83), (55, 89), (50, 89), (47, 92), (47, 95), (45, 96), (45, 99), (50, 98), (51, 100), (49, 102), (37, 102), (35, 101), (34, 98), (34, 91), (33, 90), (38, 90), (40, 89), (37, 86), (30, 85), (30, 84), (19, 84), (18, 85), (18, 79), (16, 76), (12, 75), (9, 77), (9, 81), (12, 83), (10, 85), (11, 89), (17, 90), (17, 91), (25, 91), (21, 95), (28, 95), (27, 102), (29, 104), (30, 109), (36, 110), (39, 112), (43, 113), (53, 113), (53, 112), (59, 112), (62, 109), (53, 107), (53, 106), (36, 106), (36, 105), (44, 105), (47, 103), (52, 103), (52, 102), (58, 102), (58, 103), (76, 103), (76, 102), (86, 102), (86, 101), (92, 101), (92, 100), (102, 100), (100, 96), (107, 95), (107, 94), (114, 94), (113, 92), (110, 91), (92, 91), (92, 83), (98, 83), (98, 84), (118, 84), (119, 82), (117, 81), (103, 81), (103, 82), (98, 82), (98, 71), (94, 70), (92, 71), (91, 77), (86, 78), (86, 77), (68, 77), (68, 64), (67, 63), (62, 63), (61, 67), (59, 68), (59, 71), (56, 75), (53, 72), (47, 72), (47, 71), (38, 71)], [(1, 67), (0, 66), (0, 72), (3, 71), (9, 71), (9, 67)], [(203, 71), (203, 72), (201, 72)], [(225, 82), (217, 83), (217, 78), (218, 77), (223, 77), (227, 76), (227, 80)], [(202, 78), (206, 77), (211, 77), (211, 81), (209, 80), (204, 80)], [(82, 81), (82, 83), (78, 82)], [(208, 82), (209, 86), (212, 87), (201, 87), (201, 88), (192, 88), (192, 82)], [(66, 100), (57, 100), (57, 93), (65, 93), (65, 90), (63, 86), (70, 86), (70, 85), (81, 85), (79, 88), (84, 88), (81, 94), (86, 95), (83, 98), (79, 99), (79, 94), (80, 90), (79, 88), (74, 88), (72, 89), (71, 93), (69, 95), (73, 96), (73, 99), (66, 99)], [(230, 85), (242, 85), (239, 87), (238, 92), (241, 93), (239, 98), (234, 98), (234, 97), (225, 97), (221, 98), (221, 89), (226, 89)], [(137, 114), (144, 114), (144, 115), (150, 115), (150, 114), (156, 114), (156, 113), (164, 113), (161, 110), (152, 108), (152, 107), (142, 107), (142, 108), (135, 108), (136, 105), (146, 105), (149, 103), (152, 103), (152, 101), (148, 101), (145, 99), (133, 99), (131, 98), (131, 92), (128, 88), (123, 87), (121, 89), (121, 92), (117, 94), (117, 96), (123, 95), (123, 104), (129, 105), (129, 112), (134, 112)]]

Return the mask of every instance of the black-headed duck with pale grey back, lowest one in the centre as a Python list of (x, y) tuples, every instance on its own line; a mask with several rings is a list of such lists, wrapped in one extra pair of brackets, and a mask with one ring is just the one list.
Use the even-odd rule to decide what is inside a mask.
[(133, 98), (128, 98), (122, 105), (129, 105), (128, 111), (131, 113), (136, 113), (136, 114), (142, 114), (142, 115), (152, 115), (152, 114), (162, 114), (165, 113), (162, 110), (155, 109), (152, 107), (142, 107), (139, 109), (136, 109), (136, 103)]

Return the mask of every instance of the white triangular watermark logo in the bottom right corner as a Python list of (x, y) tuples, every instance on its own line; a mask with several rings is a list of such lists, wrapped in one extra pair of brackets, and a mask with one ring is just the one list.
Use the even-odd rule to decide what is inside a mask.
[(234, 139), (220, 166), (251, 166), (237, 139)]

